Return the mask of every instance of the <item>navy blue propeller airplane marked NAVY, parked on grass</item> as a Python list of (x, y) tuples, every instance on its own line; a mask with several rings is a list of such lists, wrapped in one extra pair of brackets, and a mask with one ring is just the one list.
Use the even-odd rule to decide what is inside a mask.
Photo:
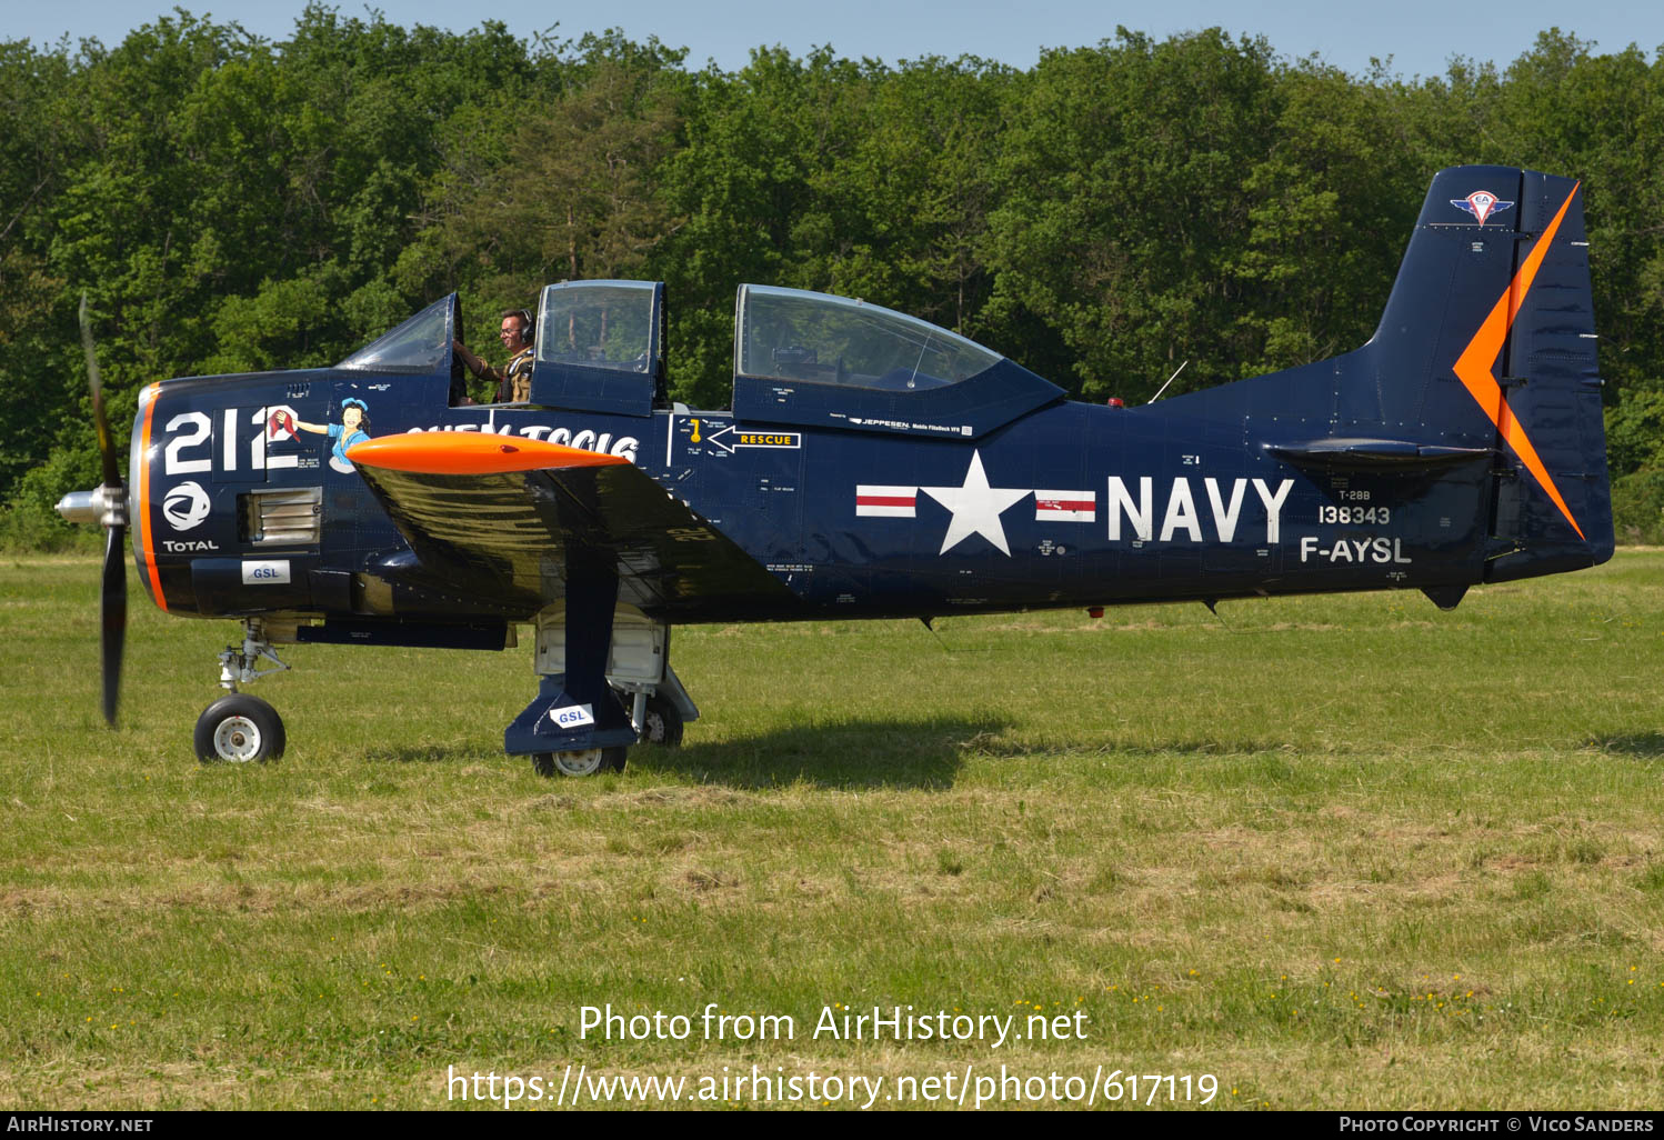
[[(233, 617), (205, 761), (283, 752), (238, 684), (273, 646), (504, 649), (537, 694), (503, 744), (537, 772), (621, 769), (699, 716), (689, 622), (924, 617), (1404, 589), (1612, 553), (1577, 183), (1434, 176), (1363, 348), (1143, 408), (1095, 406), (875, 305), (744, 285), (734, 406), (666, 399), (664, 286), (542, 290), (531, 399), (466, 404), (448, 296), (333, 368), (150, 384), (131, 489), (97, 398), (108, 529), (105, 716), (121, 546), (171, 614)], [(85, 328), (85, 325), (83, 325)]]

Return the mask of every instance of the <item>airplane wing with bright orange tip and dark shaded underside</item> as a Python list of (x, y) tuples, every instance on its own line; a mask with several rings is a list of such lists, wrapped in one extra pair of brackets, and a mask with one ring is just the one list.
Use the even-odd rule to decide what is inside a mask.
[(619, 601), (657, 619), (755, 616), (795, 602), (780, 579), (629, 459), (537, 439), (424, 431), (348, 458), (404, 534), (413, 582), (529, 616), (567, 568), (612, 566)]

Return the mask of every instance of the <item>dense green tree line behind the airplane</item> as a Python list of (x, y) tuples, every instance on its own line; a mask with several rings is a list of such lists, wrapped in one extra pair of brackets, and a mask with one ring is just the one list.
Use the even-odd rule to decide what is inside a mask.
[[(1657, 55), (1657, 53), (1654, 53)], [(1374, 330), (1428, 178), (1584, 180), (1619, 538), (1664, 538), (1664, 63), (1559, 30), (1504, 70), (1350, 75), (1218, 28), (1028, 70), (175, 10), (0, 42), (0, 539), (93, 486), (75, 311), (118, 434), (170, 376), (328, 364), (459, 290), (669, 288), (672, 393), (724, 406), (734, 288), (860, 296), (1085, 399), (1320, 359)], [(1171, 389), (1170, 389), (1171, 391)]]

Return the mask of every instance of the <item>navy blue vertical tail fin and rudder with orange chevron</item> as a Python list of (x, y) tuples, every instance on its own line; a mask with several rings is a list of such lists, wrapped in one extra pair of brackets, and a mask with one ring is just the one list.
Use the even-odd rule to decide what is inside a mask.
[(1376, 335), (1335, 361), (1353, 373), (1340, 419), (1496, 449), (1486, 581), (1602, 563), (1612, 504), (1594, 346), (1581, 185), (1441, 170)]

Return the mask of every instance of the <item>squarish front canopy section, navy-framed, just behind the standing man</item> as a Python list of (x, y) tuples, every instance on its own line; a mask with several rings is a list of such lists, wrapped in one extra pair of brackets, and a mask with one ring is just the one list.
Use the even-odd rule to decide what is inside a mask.
[(531, 371), (534, 404), (651, 416), (662, 381), (661, 281), (562, 281), (544, 286)]

